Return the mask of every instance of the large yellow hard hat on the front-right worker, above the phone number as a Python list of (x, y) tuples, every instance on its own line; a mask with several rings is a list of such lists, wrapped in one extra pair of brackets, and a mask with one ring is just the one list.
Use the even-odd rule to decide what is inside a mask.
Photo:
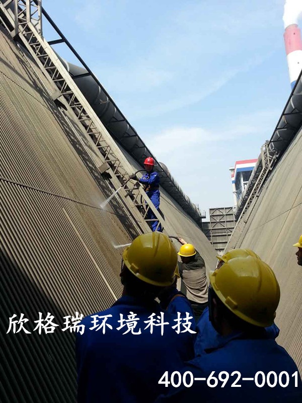
[(236, 257), (210, 272), (209, 278), (217, 297), (235, 315), (256, 326), (273, 323), (280, 288), (274, 272), (261, 259)]

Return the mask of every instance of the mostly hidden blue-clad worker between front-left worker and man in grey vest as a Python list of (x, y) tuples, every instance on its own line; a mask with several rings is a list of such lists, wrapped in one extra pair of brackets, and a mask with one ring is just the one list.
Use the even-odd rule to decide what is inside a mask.
[(177, 315), (180, 312), (181, 317), (185, 317), (187, 312), (189, 313), (190, 322), (192, 323), (191, 329), (195, 331), (196, 322), (194, 318), (194, 312), (190, 301), (181, 291), (177, 289), (177, 280), (180, 279), (179, 268), (176, 266), (175, 281), (172, 286), (165, 287), (163, 291), (158, 295), (160, 305), (162, 309), (166, 309), (168, 312)]

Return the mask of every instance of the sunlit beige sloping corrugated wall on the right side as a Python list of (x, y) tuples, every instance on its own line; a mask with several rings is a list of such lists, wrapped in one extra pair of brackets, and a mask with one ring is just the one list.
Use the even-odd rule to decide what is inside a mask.
[[(281, 287), (277, 339), (302, 373), (302, 267), (292, 245), (302, 234), (302, 131), (275, 167), (254, 204), (247, 224), (238, 224), (233, 247), (248, 247), (271, 265)], [(251, 211), (252, 210), (252, 211)], [(246, 217), (245, 217), (246, 219)]]

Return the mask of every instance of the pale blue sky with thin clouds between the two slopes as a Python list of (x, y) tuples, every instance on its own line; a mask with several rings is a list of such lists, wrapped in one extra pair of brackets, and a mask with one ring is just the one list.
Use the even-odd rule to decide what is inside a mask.
[[(229, 167), (258, 157), (290, 94), (283, 5), (43, 0), (140, 137), (204, 210), (233, 205)], [(56, 38), (43, 29), (46, 39)]]

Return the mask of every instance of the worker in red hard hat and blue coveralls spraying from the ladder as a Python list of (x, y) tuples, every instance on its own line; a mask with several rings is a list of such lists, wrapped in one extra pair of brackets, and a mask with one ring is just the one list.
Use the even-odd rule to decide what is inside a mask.
[[(146, 173), (142, 178), (138, 178), (136, 174), (130, 175), (131, 179), (138, 180), (139, 183), (143, 185), (144, 191), (147, 193), (147, 196), (154, 204), (154, 207), (159, 210), (160, 208), (160, 175), (158, 172), (154, 170), (154, 159), (152, 157), (147, 157), (144, 160), (144, 168)], [(162, 226), (157, 220), (156, 215), (153, 213), (151, 209), (147, 211), (147, 217), (149, 220), (152, 220), (151, 226), (152, 231), (162, 232)]]

